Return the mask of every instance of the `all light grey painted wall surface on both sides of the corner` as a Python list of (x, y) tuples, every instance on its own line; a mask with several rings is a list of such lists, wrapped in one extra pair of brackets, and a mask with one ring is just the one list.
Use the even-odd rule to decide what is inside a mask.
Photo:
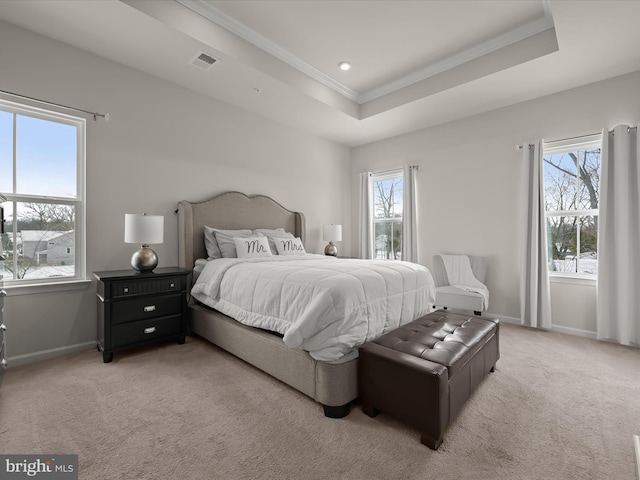
[[(342, 223), (340, 251), (355, 253), (358, 172), (417, 163), (420, 263), (431, 266), (437, 252), (488, 255), (490, 311), (519, 317), (515, 145), (640, 119), (638, 72), (350, 152), (3, 22), (0, 45), (3, 90), (111, 115), (87, 123), (88, 278), (129, 268), (125, 213), (165, 215), (165, 243), (155, 250), (161, 266), (175, 265), (177, 202), (226, 190), (270, 195), (304, 212), (313, 252), (324, 247), (321, 226)], [(593, 286), (553, 284), (552, 295), (556, 324), (595, 329)], [(72, 292), (10, 292), (4, 318), (13, 365), (88, 348), (95, 282)]]

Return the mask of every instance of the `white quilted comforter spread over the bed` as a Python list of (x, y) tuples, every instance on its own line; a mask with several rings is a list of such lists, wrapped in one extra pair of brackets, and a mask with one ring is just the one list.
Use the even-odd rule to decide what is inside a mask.
[(415, 263), (274, 256), (209, 261), (191, 294), (241, 323), (281, 333), (288, 347), (336, 362), (429, 313), (435, 285)]

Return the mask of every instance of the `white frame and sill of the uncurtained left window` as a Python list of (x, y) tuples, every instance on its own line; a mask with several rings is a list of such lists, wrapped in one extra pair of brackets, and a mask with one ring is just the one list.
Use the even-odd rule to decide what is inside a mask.
[[(74, 274), (64, 277), (47, 277), (47, 278), (30, 278), (30, 279), (14, 279), (5, 278), (4, 286), (13, 293), (37, 293), (44, 287), (56, 287), (56, 290), (73, 290), (79, 288), (76, 284), (86, 284), (89, 281), (86, 278), (86, 119), (57, 112), (54, 110), (46, 110), (33, 107), (27, 104), (10, 102), (0, 99), (0, 111), (12, 114), (13, 137), (12, 137), (12, 180), (11, 192), (2, 192), (7, 198), (6, 203), (11, 203), (13, 216), (13, 232), (12, 244), (14, 262), (17, 262), (17, 220), (15, 218), (16, 207), (18, 203), (40, 203), (52, 205), (71, 205), (74, 207)], [(56, 195), (34, 195), (29, 193), (17, 193), (17, 152), (16, 152), (16, 116), (28, 116), (40, 120), (70, 125), (76, 128), (76, 196), (60, 197)], [(5, 215), (6, 218), (6, 215)], [(5, 260), (9, 261), (9, 259)], [(14, 263), (15, 271), (15, 263)], [(80, 285), (81, 287), (82, 285)], [(14, 290), (15, 289), (15, 290)]]

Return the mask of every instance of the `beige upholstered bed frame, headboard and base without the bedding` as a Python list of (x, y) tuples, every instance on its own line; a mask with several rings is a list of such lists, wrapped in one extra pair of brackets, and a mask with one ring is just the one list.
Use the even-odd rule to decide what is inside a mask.
[[(179, 264), (187, 269), (194, 269), (196, 262), (202, 261), (199, 259), (208, 256), (205, 226), (225, 230), (279, 227), (303, 243), (306, 233), (302, 213), (290, 211), (264, 195), (240, 192), (226, 192), (202, 202), (181, 201), (178, 223)], [(428, 276), (431, 278), (430, 273)], [(435, 285), (425, 308), (431, 308), (431, 296), (435, 296)], [(358, 396), (357, 353), (335, 362), (317, 360), (304, 349), (289, 348), (282, 335), (244, 325), (193, 296), (189, 314), (192, 333), (311, 397), (322, 404), (325, 416), (339, 418), (349, 413), (351, 402)]]

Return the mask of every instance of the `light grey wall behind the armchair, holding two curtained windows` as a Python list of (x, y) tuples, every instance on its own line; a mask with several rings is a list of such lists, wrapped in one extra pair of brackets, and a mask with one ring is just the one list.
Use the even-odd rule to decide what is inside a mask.
[[(421, 165), (419, 262), (431, 266), (435, 253), (487, 255), (489, 311), (519, 319), (522, 161), (516, 145), (635, 125), (638, 85), (640, 72), (355, 148), (352, 204), (357, 205), (359, 172)], [(354, 239), (354, 251), (356, 245)], [(555, 326), (578, 334), (595, 331), (593, 284), (554, 282), (551, 294)]]

